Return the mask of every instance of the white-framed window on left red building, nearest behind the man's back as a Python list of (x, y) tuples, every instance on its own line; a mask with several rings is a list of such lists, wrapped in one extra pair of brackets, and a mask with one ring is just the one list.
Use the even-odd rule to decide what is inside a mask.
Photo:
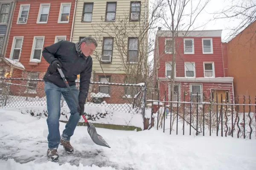
[(31, 62), (40, 62), (42, 50), (44, 46), (44, 36), (34, 37), (33, 45), (32, 45), (32, 52), (30, 56)]

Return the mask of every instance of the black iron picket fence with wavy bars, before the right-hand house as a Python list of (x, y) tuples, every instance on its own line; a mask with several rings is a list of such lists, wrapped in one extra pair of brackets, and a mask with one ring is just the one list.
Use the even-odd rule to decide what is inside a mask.
[[(155, 111), (155, 124), (158, 128), (163, 128), (163, 132), (169, 130), (169, 133), (182, 135), (215, 135), (232, 136), (237, 138), (256, 139), (256, 96), (254, 103), (252, 98), (245, 96), (232, 97), (216, 94), (215, 99), (211, 96), (205, 101), (199, 102), (201, 97), (196, 94), (196, 101), (192, 102), (192, 94), (183, 99), (177, 97), (177, 101), (166, 101), (166, 95), (163, 101), (147, 100), (152, 105), (152, 116)], [(189, 93), (188, 93), (189, 94)], [(218, 97), (220, 96), (220, 97)], [(218, 98), (220, 98), (218, 100)], [(235, 100), (234, 100), (235, 99)], [(240, 101), (239, 101), (240, 99)]]

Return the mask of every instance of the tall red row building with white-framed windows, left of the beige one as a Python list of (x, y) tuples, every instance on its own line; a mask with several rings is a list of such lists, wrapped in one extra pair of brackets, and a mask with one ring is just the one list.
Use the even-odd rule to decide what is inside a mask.
[[(5, 57), (25, 69), (12, 77), (43, 78), (49, 63), (42, 50), (60, 40), (70, 41), (74, 8), (75, 0), (17, 0)], [(44, 82), (22, 82), (27, 83), (30, 87), (19, 89), (20, 94), (45, 95)]]

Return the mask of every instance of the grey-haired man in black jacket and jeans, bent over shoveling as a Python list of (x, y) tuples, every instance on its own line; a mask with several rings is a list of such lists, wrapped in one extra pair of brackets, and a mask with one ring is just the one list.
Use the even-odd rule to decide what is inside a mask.
[[(48, 150), (50, 161), (58, 161), (58, 146), (63, 145), (67, 153), (73, 153), (70, 137), (73, 136), (88, 95), (93, 60), (90, 57), (97, 47), (92, 37), (85, 37), (80, 42), (60, 41), (44, 48), (42, 55), (50, 64), (44, 75), (44, 91), (47, 97)], [(61, 68), (71, 91), (79, 101), (78, 108), (57, 68)], [(76, 88), (77, 75), (80, 74), (80, 88)], [(70, 109), (70, 119), (60, 135), (59, 118), (61, 115), (61, 94)]]

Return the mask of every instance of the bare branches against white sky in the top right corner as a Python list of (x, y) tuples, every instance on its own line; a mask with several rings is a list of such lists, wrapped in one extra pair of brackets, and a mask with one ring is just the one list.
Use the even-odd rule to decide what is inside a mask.
[[(226, 0), (230, 6), (224, 7), (221, 11), (214, 14), (214, 19), (238, 19), (237, 26), (230, 29), (230, 34), (225, 41), (231, 40), (247, 26), (256, 20), (256, 1), (255, 0)], [(256, 34), (256, 30), (254, 32)], [(254, 35), (253, 34), (253, 35)], [(253, 36), (252, 36), (253, 37)]]

